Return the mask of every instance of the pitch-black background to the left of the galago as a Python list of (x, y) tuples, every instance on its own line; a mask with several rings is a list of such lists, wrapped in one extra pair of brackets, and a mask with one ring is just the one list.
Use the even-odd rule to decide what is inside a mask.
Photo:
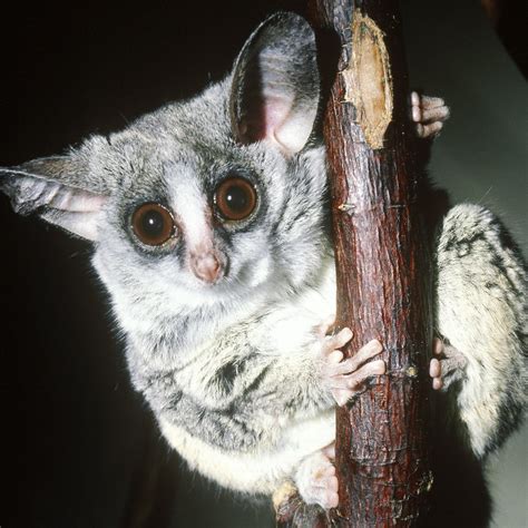
[[(58, 154), (196, 94), (228, 71), (266, 13), (304, 2), (141, 3), (11, 3), (0, 35), (0, 165)], [(405, 17), (411, 56), (446, 38), (412, 21), (412, 9)], [(434, 78), (436, 59), (417, 60)], [(164, 469), (150, 526), (268, 526), (267, 507), (226, 500), (158, 441), (129, 385), (89, 245), (17, 217), (3, 197), (0, 217), (0, 526), (135, 526), (153, 444)]]

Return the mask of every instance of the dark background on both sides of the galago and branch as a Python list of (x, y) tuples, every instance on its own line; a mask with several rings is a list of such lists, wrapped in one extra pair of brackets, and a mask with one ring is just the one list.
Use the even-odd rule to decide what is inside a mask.
[[(196, 94), (228, 71), (266, 13), (304, 2), (143, 3), (11, 4), (0, 35), (0, 165), (58, 154)], [(501, 213), (526, 250), (521, 74), (479, 2), (402, 6), (411, 84), (452, 108), (432, 176), (456, 199)], [(89, 245), (17, 217), (4, 198), (0, 217), (0, 526), (144, 526), (145, 496), (159, 528), (271, 526), (266, 506), (189, 475), (158, 438), (130, 389)], [(525, 430), (491, 467), (497, 526), (526, 522), (526, 454)]]

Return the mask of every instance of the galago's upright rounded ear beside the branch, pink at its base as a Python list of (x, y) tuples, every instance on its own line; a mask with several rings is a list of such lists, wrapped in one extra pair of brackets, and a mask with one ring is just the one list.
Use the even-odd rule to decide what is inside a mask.
[(231, 120), (236, 140), (267, 139), (286, 155), (312, 133), (320, 99), (315, 36), (299, 14), (265, 20), (244, 45), (233, 70)]

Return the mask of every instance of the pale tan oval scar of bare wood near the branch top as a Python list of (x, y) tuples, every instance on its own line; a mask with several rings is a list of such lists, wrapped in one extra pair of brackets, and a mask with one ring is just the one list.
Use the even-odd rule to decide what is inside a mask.
[(392, 119), (392, 77), (384, 33), (375, 22), (354, 11), (352, 58), (341, 71), (344, 102), (352, 102), (356, 121), (371, 148), (383, 147), (383, 136)]

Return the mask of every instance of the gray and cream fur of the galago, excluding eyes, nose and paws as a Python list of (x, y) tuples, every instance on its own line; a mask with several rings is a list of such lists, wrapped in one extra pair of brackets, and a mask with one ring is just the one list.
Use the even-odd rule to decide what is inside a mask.
[[(0, 173), (17, 211), (94, 241), (136, 389), (192, 467), (248, 492), (272, 492), (333, 439), (316, 331), (335, 310), (335, 277), (324, 150), (309, 141), (319, 102), (314, 46), (306, 22), (276, 14), (250, 38), (233, 74), (196, 98), (63, 157)], [(258, 68), (255, 85), (247, 76)], [(291, 127), (278, 139), (247, 135), (244, 119), (258, 116), (251, 90), (265, 101), (281, 89)], [(261, 199), (247, 223), (214, 227), (228, 260), (218, 283), (189, 273), (185, 229), (158, 250), (134, 238), (130, 214), (145, 202), (176, 215), (192, 203), (186, 228), (214, 224), (212, 189), (234, 169)], [(467, 358), (449, 391), (480, 457), (526, 405), (526, 275), (502, 233), (489, 212), (461, 205), (438, 243), (437, 327)]]

